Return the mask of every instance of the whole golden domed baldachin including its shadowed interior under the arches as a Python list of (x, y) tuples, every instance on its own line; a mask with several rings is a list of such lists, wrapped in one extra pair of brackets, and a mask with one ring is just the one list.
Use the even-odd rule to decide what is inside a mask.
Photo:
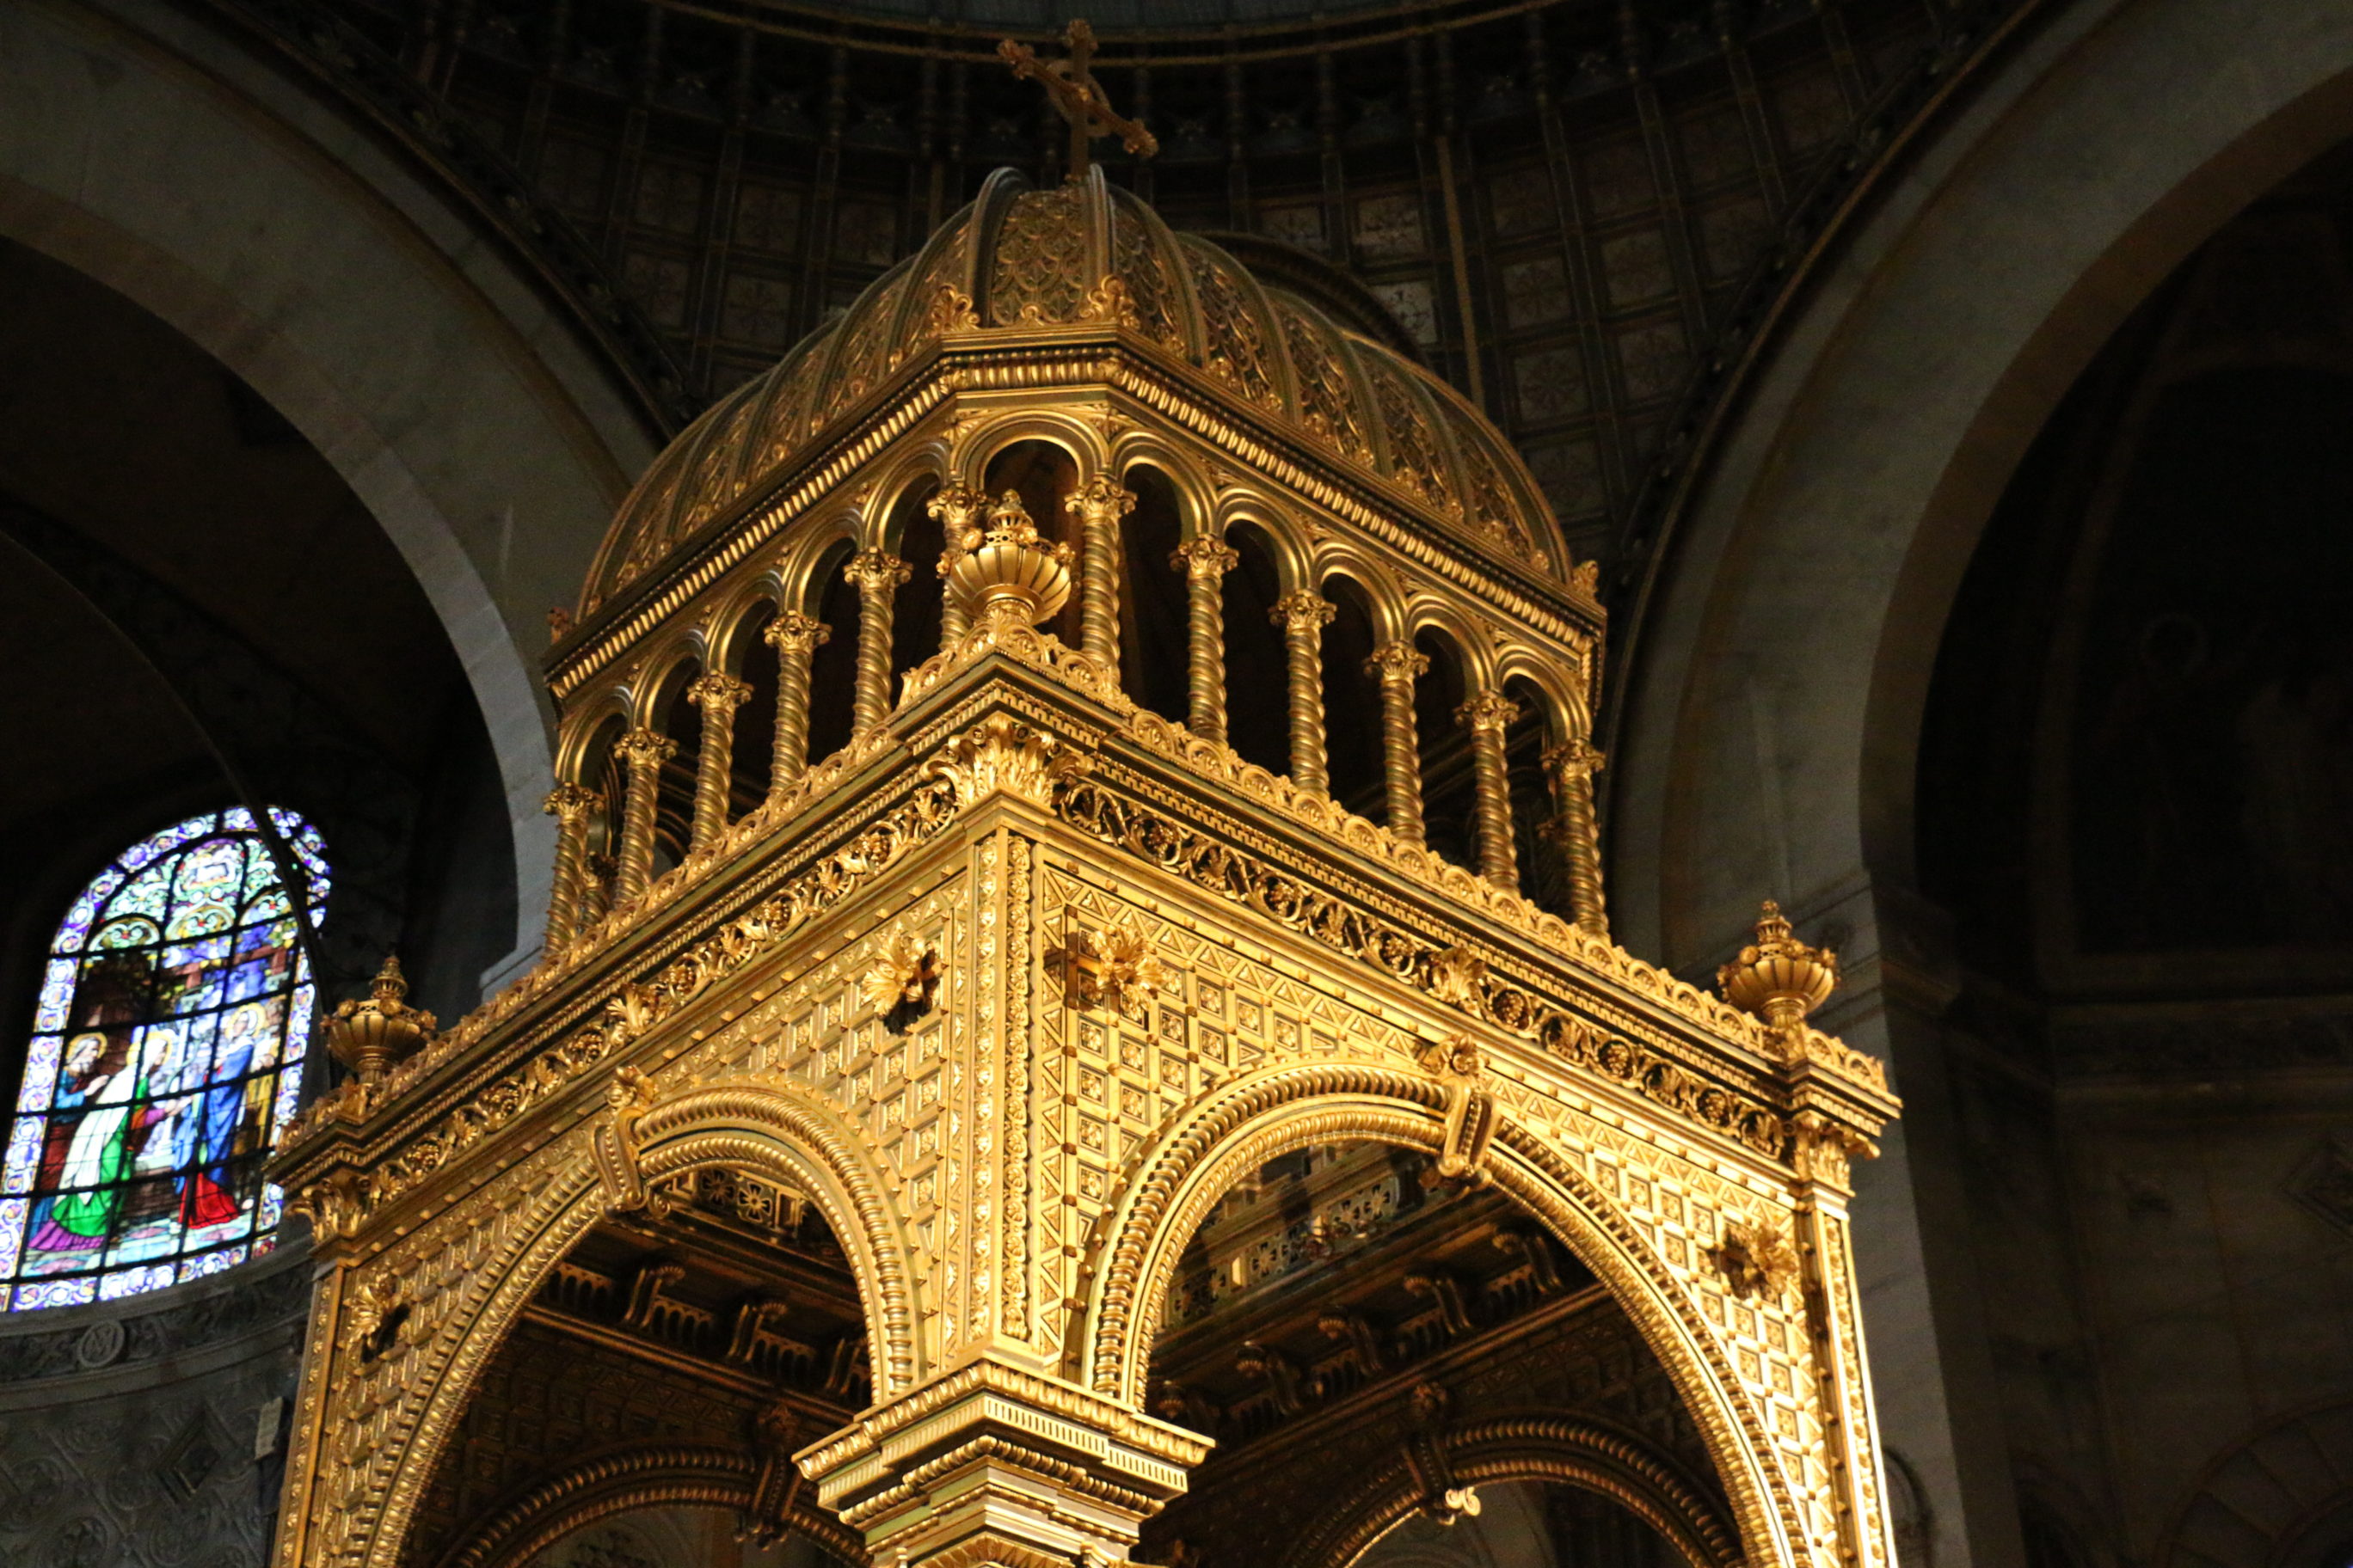
[[(278, 1561), (668, 1500), (1337, 1568), (1581, 1476), (1694, 1563), (1889, 1563), (1847, 1199), (1894, 1100), (1777, 917), (1741, 1006), (1609, 943), (1593, 574), (1428, 371), (1000, 172), (654, 463), (565, 625), (541, 964), (374, 1027), (275, 1166)], [(518, 1436), (567, 1380), (642, 1441)]]

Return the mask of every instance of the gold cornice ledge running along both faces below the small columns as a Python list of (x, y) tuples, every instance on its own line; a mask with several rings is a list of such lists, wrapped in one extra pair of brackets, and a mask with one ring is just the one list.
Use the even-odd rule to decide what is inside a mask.
[[(1040, 642), (1049, 642), (1035, 635)], [(485, 1004), (459, 1027), (449, 1030), (435, 1046), (409, 1063), (402, 1063), (381, 1086), (351, 1084), (336, 1095), (320, 1100), (294, 1128), (289, 1128), (278, 1178), (287, 1182), (318, 1180), (334, 1164), (365, 1164), (372, 1168), (393, 1166), (409, 1171), (407, 1150), (421, 1147), (440, 1135), (447, 1145), (428, 1171), (409, 1171), (391, 1182), (376, 1182), (367, 1194), (369, 1206), (386, 1201), (412, 1187), (428, 1187), (438, 1166), (459, 1152), (459, 1145), (475, 1135), (473, 1119), (480, 1112), (466, 1110), (466, 1095), (506, 1093), (513, 1098), (513, 1117), (532, 1112), (539, 1119), (544, 1107), (574, 1105), (586, 1095), (588, 1067), (614, 1053), (614, 1044), (600, 1044), (584, 1063), (560, 1077), (548, 1077), (544, 1053), (562, 1037), (581, 1039), (598, 1030), (609, 1032), (614, 1009), (647, 1009), (647, 1025), (631, 1025), (624, 1034), (659, 1027), (668, 1006), (656, 997), (668, 992), (694, 994), (704, 985), (734, 985), (744, 969), (769, 969), (791, 952), (791, 943), (812, 931), (821, 931), (816, 914), (762, 938), (758, 950), (746, 950), (725, 973), (699, 978), (692, 985), (678, 980), (680, 964), (689, 961), (694, 947), (687, 936), (711, 931), (720, 922), (741, 922), (769, 900), (791, 896), (798, 879), (819, 872), (828, 858), (845, 853), (854, 860), (854, 846), (873, 835), (878, 823), (906, 813), (911, 802), (925, 790), (941, 785), (939, 752), (958, 731), (972, 724), (979, 712), (1002, 708), (1024, 722), (1049, 722), (1068, 733), (1066, 745), (1094, 755), (1087, 788), (1108, 788), (1148, 811), (1174, 811), (1188, 832), (1202, 832), (1240, 853), (1257, 856), (1268, 875), (1280, 875), (1301, 889), (1341, 905), (1377, 912), (1379, 919), (1412, 933), (1412, 943), (1428, 954), (1461, 954), (1464, 964), (1475, 964), (1482, 978), (1518, 987), (1558, 1016), (1572, 1018), (1579, 1027), (1600, 1027), (1591, 1041), (1609, 1063), (1617, 1056), (1609, 1041), (1633, 1051), (1621, 1063), (1624, 1072), (1593, 1070), (1595, 1084), (1617, 1084), (1624, 1091), (1633, 1084), (1640, 1098), (1659, 1110), (1673, 1110), (1680, 1100), (1708, 1093), (1718, 1086), (1737, 1105), (1769, 1110), (1781, 1121), (1793, 1114), (1814, 1112), (1840, 1124), (1875, 1131), (1894, 1114), (1897, 1103), (1885, 1088), (1885, 1074), (1875, 1058), (1854, 1053), (1819, 1032), (1819, 1051), (1800, 1063), (1781, 1063), (1774, 1053), (1769, 1030), (1748, 1013), (1642, 964), (1633, 954), (1593, 938), (1525, 898), (1501, 893), (1464, 867), (1438, 863), (1428, 851), (1412, 849), (1393, 839), (1386, 830), (1353, 818), (1322, 797), (1308, 797), (1287, 780), (1266, 776), (1261, 769), (1242, 764), (1228, 748), (1181, 736), (1162, 719), (1129, 712), (1129, 722), (1118, 722), (1118, 710), (1080, 698), (1068, 705), (1066, 675), (1052, 665), (1009, 661), (986, 639), (972, 639), (965, 668), (948, 668), (929, 693), (892, 719), (896, 738), (885, 741), (882, 731), (868, 752), (868, 762), (882, 771), (861, 769), (854, 778), (835, 778), (833, 788), (809, 799), (805, 820), (833, 820), (833, 832), (807, 835), (793, 842), (795, 820), (758, 823), (746, 818), (732, 830), (760, 827), (776, 849), (760, 853), (751, 844), (722, 842), (713, 856), (701, 856), (661, 877), (640, 905), (616, 910), (602, 926), (574, 940), (555, 966), (534, 971), (525, 983)], [(1009, 686), (1009, 689), (1007, 689)], [(1040, 705), (1047, 696), (1049, 705)], [(1099, 719), (1087, 719), (1087, 708)], [(1052, 715), (1052, 719), (1047, 717)], [(1094, 733), (1085, 733), (1094, 729)], [(838, 790), (861, 785), (861, 795), (875, 802), (849, 820), (807, 816), (826, 806)], [(1254, 799), (1264, 816), (1245, 818), (1233, 811), (1235, 799)], [(955, 813), (941, 806), (939, 825)], [(1052, 816), (1052, 811), (1049, 811)], [(1082, 832), (1078, 823), (1073, 832)], [(751, 837), (751, 835), (744, 835)], [(1094, 839), (1087, 839), (1094, 842)], [(786, 849), (788, 846), (788, 849)], [(854, 877), (854, 886), (831, 898), (824, 910), (842, 907), (864, 898), (885, 875), (896, 877), (915, 863), (922, 842), (908, 844), (882, 865)], [(746, 867), (758, 867), (746, 875)], [(736, 872), (718, 875), (715, 872)], [(1313, 936), (1313, 933), (1311, 933)], [(704, 943), (708, 945), (708, 940)], [(1419, 966), (1424, 959), (1414, 959)], [(1419, 973), (1419, 969), (1417, 969)], [(1471, 973), (1471, 971), (1466, 971)], [(1577, 978), (1584, 985), (1577, 985)], [(1400, 976), (1400, 983), (1412, 983)], [(1431, 990), (1424, 985), (1424, 990)], [(647, 997), (645, 1004), (631, 997)], [(1466, 992), (1471, 997), (1473, 992)], [(1445, 997), (1440, 997), (1445, 999)], [(1464, 1006), (1454, 1001), (1452, 1006)], [(1558, 1060), (1544, 1041), (1511, 1020), (1487, 1018), (1482, 1004), (1468, 1016), (1497, 1030), (1499, 1037), (1522, 1039), (1527, 1051)], [(1534, 1027), (1534, 1025), (1529, 1025)], [(494, 1034), (504, 1034), (494, 1039)], [(487, 1044), (485, 1044), (487, 1041)], [(480, 1046), (480, 1048), (475, 1048)], [(1642, 1067), (1642, 1053), (1661, 1053), (1673, 1063), (1661, 1093)], [(1602, 1058), (1598, 1058), (1602, 1060)], [(1577, 1067), (1577, 1063), (1562, 1063)], [(485, 1086), (487, 1079), (487, 1086)], [(1692, 1084), (1689, 1079), (1697, 1079)], [(511, 1088), (499, 1091), (499, 1084)], [(1697, 1103), (1697, 1100), (1694, 1100)], [(360, 1114), (353, 1117), (351, 1107)], [(579, 1107), (574, 1105), (574, 1112)], [(553, 1114), (553, 1112), (551, 1112)], [(504, 1117), (501, 1117), (504, 1121)], [(1727, 1131), (1729, 1124), (1708, 1124), (1689, 1117), (1689, 1131), (1706, 1138), (1729, 1138), (1746, 1143), (1751, 1154), (1786, 1161), (1784, 1131), (1741, 1135)], [(325, 1133), (341, 1128), (344, 1138), (329, 1140)], [(365, 1150), (365, 1159), (358, 1159)]]

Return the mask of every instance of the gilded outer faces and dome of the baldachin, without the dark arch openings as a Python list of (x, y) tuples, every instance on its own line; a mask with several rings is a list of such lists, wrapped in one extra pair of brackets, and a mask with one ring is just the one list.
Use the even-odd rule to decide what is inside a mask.
[[(1066, 517), (988, 494), (1016, 442), (1066, 456)], [(1184, 512), (1184, 715), (1120, 679), (1139, 463)], [(899, 559), (911, 494), (946, 538), (936, 578)], [(1282, 576), (1287, 776), (1224, 733), (1240, 522)], [(854, 738), (812, 762), (835, 543)], [(1327, 795), (1334, 576), (1381, 637), (1386, 825)], [(934, 581), (941, 649), (894, 670), (894, 607)], [(1040, 628), (1066, 597), (1078, 646)], [(746, 649), (753, 609), (769, 632)], [(1431, 630), (1471, 689), (1471, 867), (1419, 830)], [(1099, 174), (991, 181), (624, 508), (553, 656), (539, 969), (442, 1034), (393, 987), (336, 1023), (362, 1070), (278, 1161), (320, 1260), (278, 1561), (391, 1568), (534, 1291), (593, 1225), (706, 1168), (802, 1194), (859, 1284), (875, 1403), (798, 1455), (838, 1540), (918, 1566), (1120, 1561), (1209, 1453), (1144, 1406), (1176, 1255), (1268, 1159), (1377, 1140), (1508, 1194), (1609, 1286), (1722, 1483), (1729, 1519), (1675, 1526), (1692, 1552), (1885, 1568), (1847, 1161), (1894, 1103), (1805, 1023), (1831, 961), (1786, 924), (1727, 966), (1739, 1006), (1609, 943), (1600, 642), (1591, 574), (1442, 383)], [(774, 658), (774, 776), (729, 820), (751, 651)], [(701, 741), (661, 870), (675, 755), (652, 703), (682, 665)], [(1525, 701), (1562, 914), (1520, 896), (1511, 853)], [(1539, 1462), (1558, 1425), (1433, 1429), (1400, 1462), (1501, 1474), (1499, 1443)], [(1313, 1568), (1400, 1507), (1419, 1505), (1367, 1502)]]

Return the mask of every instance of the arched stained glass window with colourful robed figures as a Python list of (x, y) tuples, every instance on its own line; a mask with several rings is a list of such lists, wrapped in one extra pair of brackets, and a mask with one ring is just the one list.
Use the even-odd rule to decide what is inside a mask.
[[(271, 811), (311, 919), (325, 844)], [(268, 1251), (261, 1161), (301, 1093), (311, 966), (278, 863), (240, 811), (101, 870), (49, 945), (0, 1173), (0, 1305), (71, 1307)]]

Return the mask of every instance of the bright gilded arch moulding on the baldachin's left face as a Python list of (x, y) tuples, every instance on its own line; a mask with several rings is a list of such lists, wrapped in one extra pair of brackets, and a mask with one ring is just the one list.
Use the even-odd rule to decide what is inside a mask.
[[(428, 1328), (414, 1347), (426, 1356), (426, 1375), (416, 1382), (426, 1394), (407, 1443), (386, 1455), (381, 1514), (362, 1559), (369, 1568), (391, 1568), (400, 1559), (409, 1516), (489, 1359), (555, 1265), (612, 1211), (616, 1194), (607, 1190), (591, 1154), (602, 1131), (600, 1121), (584, 1121), (508, 1178), (525, 1187), (534, 1173), (548, 1173), (539, 1204), (511, 1220), (508, 1239), (494, 1251), (480, 1248), (454, 1220), (445, 1220), (445, 1227), (416, 1232), (381, 1262), (353, 1272), (365, 1276), (381, 1269), (379, 1279), (393, 1284), (405, 1267), (449, 1269), (447, 1253), (468, 1253), (459, 1279), (471, 1288), (452, 1284), (431, 1300), (433, 1319), (445, 1328)], [(640, 1182), (720, 1164), (793, 1182), (826, 1215), (859, 1286), (875, 1396), (901, 1394), (927, 1371), (915, 1340), (918, 1300), (899, 1215), (882, 1194), (882, 1178), (833, 1107), (784, 1081), (696, 1086), (640, 1112), (631, 1143)], [(313, 1345), (313, 1354), (318, 1349)], [(334, 1356), (346, 1378), (353, 1371), (351, 1356), (351, 1347), (339, 1347)], [(313, 1500), (306, 1509), (313, 1523), (318, 1512)]]

